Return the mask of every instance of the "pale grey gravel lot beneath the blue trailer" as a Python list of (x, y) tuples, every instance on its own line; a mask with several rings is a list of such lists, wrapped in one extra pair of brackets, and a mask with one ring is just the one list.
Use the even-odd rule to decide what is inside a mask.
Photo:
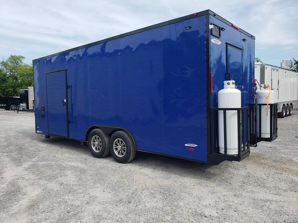
[(1, 223), (298, 222), (298, 111), (241, 162), (210, 166), (137, 152), (127, 164), (35, 134), (0, 110)]

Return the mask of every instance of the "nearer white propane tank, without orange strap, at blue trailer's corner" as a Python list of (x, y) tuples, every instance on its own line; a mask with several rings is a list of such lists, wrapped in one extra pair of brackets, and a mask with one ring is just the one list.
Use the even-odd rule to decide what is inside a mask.
[[(241, 91), (235, 89), (235, 81), (224, 81), (224, 89), (218, 92), (219, 108), (241, 108)], [(226, 111), (227, 155), (238, 154), (237, 111)], [(218, 112), (219, 147), (224, 154), (224, 112)]]

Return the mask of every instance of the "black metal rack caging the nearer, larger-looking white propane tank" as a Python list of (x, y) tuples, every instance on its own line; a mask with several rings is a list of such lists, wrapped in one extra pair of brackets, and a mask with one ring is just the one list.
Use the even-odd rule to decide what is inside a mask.
[[(220, 153), (219, 148), (219, 124), (218, 124), (218, 113), (223, 111), (224, 115), (224, 154)], [(238, 140), (238, 154), (229, 155), (227, 154), (227, 123), (226, 123), (226, 112), (236, 111), (237, 112), (237, 137)], [(249, 145), (250, 145), (250, 125), (249, 125), (249, 107), (242, 108), (211, 108), (211, 163), (217, 165), (223, 160), (229, 161), (241, 161), (242, 159), (249, 156)]]

